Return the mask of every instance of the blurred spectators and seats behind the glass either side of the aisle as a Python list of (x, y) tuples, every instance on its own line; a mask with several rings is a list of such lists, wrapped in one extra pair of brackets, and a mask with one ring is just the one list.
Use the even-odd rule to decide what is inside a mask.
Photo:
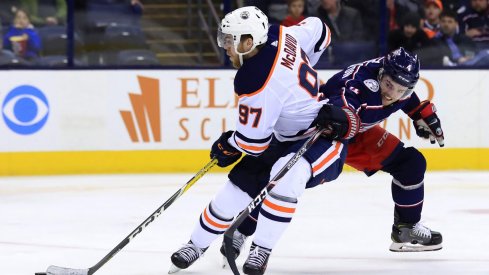
[[(401, 46), (425, 67), (489, 66), (489, 0), (386, 0), (385, 13), (380, 0), (237, 2), (284, 26), (319, 17), (332, 42), (318, 67), (349, 65)], [(74, 0), (74, 9), (76, 64), (127, 65), (142, 56), (148, 58), (140, 64), (159, 64), (139, 24), (141, 0)], [(0, 65), (66, 64), (66, 15), (65, 0), (1, 0)]]

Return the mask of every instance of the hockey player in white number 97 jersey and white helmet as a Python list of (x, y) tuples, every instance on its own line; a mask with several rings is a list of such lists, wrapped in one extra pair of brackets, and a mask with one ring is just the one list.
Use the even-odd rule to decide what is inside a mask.
[[(217, 40), (238, 69), (234, 80), (238, 121), (235, 131), (223, 133), (213, 144), (211, 157), (225, 167), (238, 161), (242, 153), (246, 155), (204, 209), (190, 241), (171, 256), (174, 266), (170, 272), (193, 264), (264, 187), (257, 183), (267, 183), (314, 132), (314, 120), (323, 105), (318, 102), (319, 83), (312, 66), (330, 37), (327, 26), (315, 17), (291, 27), (269, 27), (266, 15), (256, 7), (240, 8), (224, 17)], [(346, 122), (332, 127), (330, 134), (353, 136), (358, 130), (355, 115), (348, 118), (348, 109), (336, 108)], [(243, 266), (245, 274), (265, 272), (303, 191), (341, 173), (343, 148), (340, 141), (320, 138), (264, 199)], [(270, 172), (267, 167), (271, 165)]]

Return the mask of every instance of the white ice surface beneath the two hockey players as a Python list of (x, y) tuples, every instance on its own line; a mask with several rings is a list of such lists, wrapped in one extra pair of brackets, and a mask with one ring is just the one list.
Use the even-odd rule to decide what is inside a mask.
[[(0, 273), (94, 265), (191, 176), (0, 178)], [(166, 274), (225, 180), (206, 175), (96, 274)], [(489, 172), (429, 173), (425, 184), (423, 220), (443, 234), (442, 250), (388, 251), (390, 176), (344, 173), (305, 192), (267, 274), (489, 274)], [(231, 274), (221, 269), (220, 242), (177, 274)]]

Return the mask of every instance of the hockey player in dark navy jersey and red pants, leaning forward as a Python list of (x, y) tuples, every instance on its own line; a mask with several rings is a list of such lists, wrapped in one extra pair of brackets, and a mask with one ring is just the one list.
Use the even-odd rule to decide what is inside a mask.
[[(399, 48), (380, 57), (347, 67), (331, 77), (320, 91), (324, 101), (349, 107), (360, 117), (360, 130), (348, 140), (345, 163), (367, 176), (381, 170), (393, 176), (391, 189), (394, 200), (391, 251), (433, 251), (442, 248), (442, 235), (422, 225), (426, 160), (413, 147), (405, 147), (394, 135), (379, 126), (392, 113), (402, 110), (414, 123), (416, 134), (444, 146), (444, 134), (436, 108), (429, 101), (420, 101), (414, 92), (419, 79), (418, 57)], [(317, 123), (336, 123), (339, 136), (347, 128), (342, 116), (330, 111), (318, 114)], [(340, 118), (340, 119), (338, 119)], [(234, 235), (236, 255), (247, 236), (256, 226), (255, 210)], [(221, 252), (223, 250), (221, 249)]]

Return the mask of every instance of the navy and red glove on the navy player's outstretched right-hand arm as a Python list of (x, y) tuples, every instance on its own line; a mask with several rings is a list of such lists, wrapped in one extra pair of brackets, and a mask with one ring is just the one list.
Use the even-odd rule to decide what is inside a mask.
[(440, 118), (436, 115), (435, 105), (427, 100), (409, 115), (413, 120), (416, 134), (422, 138), (430, 139), (431, 144), (438, 142), (440, 147), (445, 146), (445, 137), (441, 129)]

